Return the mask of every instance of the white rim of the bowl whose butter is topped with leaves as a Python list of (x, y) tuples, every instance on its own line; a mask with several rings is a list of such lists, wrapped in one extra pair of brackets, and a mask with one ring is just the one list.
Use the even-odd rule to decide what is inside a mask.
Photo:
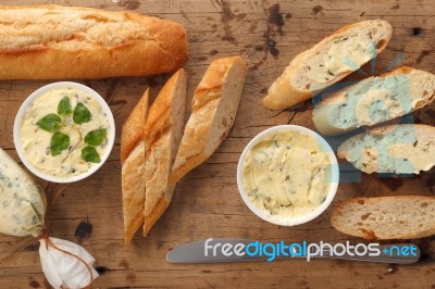
[[(94, 164), (91, 166), (91, 168), (89, 171), (87, 171), (86, 173), (82, 174), (82, 175), (76, 175), (76, 176), (72, 176), (70, 178), (64, 178), (64, 177), (54, 177), (51, 175), (47, 175), (44, 172), (41, 172), (40, 169), (38, 169), (36, 166), (34, 166), (26, 158), (23, 147), (21, 144), (21, 125), (22, 125), (22, 121), (23, 121), (23, 116), (26, 113), (26, 110), (28, 108), (28, 105), (32, 104), (32, 102), (38, 98), (39, 96), (41, 96), (42, 93), (51, 90), (51, 89), (55, 89), (55, 88), (64, 88), (64, 87), (71, 87), (77, 90), (82, 90), (85, 91), (86, 93), (88, 93), (89, 96), (94, 97), (99, 104), (101, 105), (102, 110), (104, 111), (104, 113), (107, 114), (108, 117), (108, 122), (110, 125), (110, 129), (109, 129), (109, 134), (108, 134), (108, 143), (107, 147), (104, 149), (104, 153), (101, 155), (101, 162)], [(112, 111), (110, 110), (108, 103), (105, 102), (105, 100), (94, 89), (84, 86), (82, 84), (77, 84), (77, 83), (72, 83), (72, 81), (60, 81), (60, 83), (53, 83), (50, 85), (46, 85), (39, 89), (37, 89), (36, 91), (34, 91), (21, 105), (16, 116), (15, 116), (15, 122), (14, 122), (14, 126), (13, 126), (13, 140), (14, 140), (14, 144), (15, 144), (15, 149), (16, 152), (20, 156), (20, 159), (22, 160), (23, 164), (32, 172), (34, 173), (36, 176), (48, 180), (48, 181), (52, 181), (52, 183), (74, 183), (80, 179), (84, 179), (90, 175), (92, 175), (95, 172), (97, 172), (103, 164), (104, 162), (108, 160), (112, 148), (113, 148), (113, 143), (115, 141), (115, 122), (113, 118), (113, 114)]]

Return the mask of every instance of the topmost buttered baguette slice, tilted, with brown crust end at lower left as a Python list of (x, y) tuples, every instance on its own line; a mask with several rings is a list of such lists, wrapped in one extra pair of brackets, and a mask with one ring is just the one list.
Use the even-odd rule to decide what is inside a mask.
[(312, 98), (375, 58), (389, 42), (391, 32), (391, 25), (381, 20), (338, 29), (296, 55), (269, 88), (264, 105), (282, 110)]

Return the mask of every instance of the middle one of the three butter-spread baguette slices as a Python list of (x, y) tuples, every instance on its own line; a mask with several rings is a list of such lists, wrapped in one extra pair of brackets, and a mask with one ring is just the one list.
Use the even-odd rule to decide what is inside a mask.
[(322, 100), (313, 111), (318, 130), (340, 135), (406, 115), (435, 99), (435, 75), (400, 67), (345, 87)]

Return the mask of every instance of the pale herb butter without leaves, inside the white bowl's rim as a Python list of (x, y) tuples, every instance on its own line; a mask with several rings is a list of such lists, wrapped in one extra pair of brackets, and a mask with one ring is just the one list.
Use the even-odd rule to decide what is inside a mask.
[(331, 162), (315, 138), (278, 130), (246, 154), (243, 183), (257, 208), (271, 215), (302, 216), (319, 208), (330, 188)]

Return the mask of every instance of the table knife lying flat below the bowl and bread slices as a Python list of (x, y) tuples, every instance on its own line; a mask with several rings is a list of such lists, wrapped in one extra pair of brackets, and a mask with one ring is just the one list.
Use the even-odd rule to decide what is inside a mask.
[[(307, 242), (299, 243), (302, 247), (302, 251), (303, 251), (303, 243), (304, 246), (308, 246)], [(283, 251), (279, 251), (277, 249), (277, 244), (283, 246), (284, 242), (282, 241), (281, 243), (273, 243), (274, 249), (272, 249), (273, 246), (271, 243), (259, 242), (256, 240), (235, 239), (235, 238), (209, 238), (199, 241), (188, 242), (171, 250), (166, 255), (166, 261), (169, 263), (178, 263), (178, 264), (247, 262), (247, 261), (268, 261), (268, 260), (271, 261), (272, 259), (271, 256), (273, 256), (272, 250), (274, 250), (275, 252), (275, 256), (273, 260), (294, 259), (294, 257), (307, 260), (307, 255), (303, 255), (303, 253), (299, 254), (298, 250), (291, 250), (293, 252), (291, 254), (288, 254), (288, 252), (290, 251), (287, 250), (287, 255), (284, 255), (282, 253)], [(250, 246), (250, 248), (248, 246)], [(341, 260), (369, 261), (369, 262), (380, 262), (380, 263), (412, 264), (419, 261), (421, 254), (419, 247), (413, 243), (377, 244), (374, 246), (376, 249), (378, 249), (377, 255), (370, 255), (369, 250), (361, 250), (361, 248), (366, 249), (365, 244), (361, 246), (357, 244), (357, 246), (359, 247), (359, 249), (357, 248), (359, 251), (358, 254), (356, 254), (355, 251), (353, 253), (352, 252), (349, 253), (348, 251), (343, 252), (343, 250), (340, 249), (334, 255), (331, 253), (331, 250), (323, 250), (323, 255), (319, 254), (315, 256), (311, 255), (310, 260), (341, 259)], [(266, 249), (264, 249), (265, 247)], [(301, 247), (293, 247), (291, 249), (296, 248), (301, 249)], [(352, 247), (355, 248), (356, 246)], [(260, 248), (266, 250), (268, 252), (266, 253), (262, 252), (261, 254), (258, 253), (260, 252)], [(256, 253), (254, 249), (258, 249), (257, 254), (254, 254)], [(276, 254), (278, 251), (279, 253)], [(344, 254), (341, 255), (341, 253)]]

